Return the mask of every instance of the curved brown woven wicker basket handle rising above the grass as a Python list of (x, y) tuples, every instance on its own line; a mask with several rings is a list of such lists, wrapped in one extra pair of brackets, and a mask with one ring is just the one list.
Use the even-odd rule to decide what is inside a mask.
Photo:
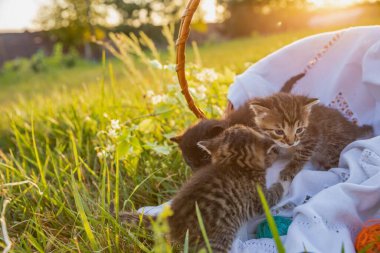
[(177, 76), (179, 84), (181, 85), (182, 94), (186, 98), (186, 102), (190, 110), (197, 116), (197, 118), (204, 119), (206, 118), (205, 114), (202, 112), (199, 107), (194, 103), (194, 100), (189, 92), (189, 85), (186, 80), (185, 75), (185, 62), (186, 62), (186, 41), (189, 38), (190, 34), (190, 23), (193, 19), (194, 12), (199, 6), (200, 0), (190, 0), (186, 6), (186, 9), (181, 18), (181, 24), (179, 27), (178, 39), (177, 39)]

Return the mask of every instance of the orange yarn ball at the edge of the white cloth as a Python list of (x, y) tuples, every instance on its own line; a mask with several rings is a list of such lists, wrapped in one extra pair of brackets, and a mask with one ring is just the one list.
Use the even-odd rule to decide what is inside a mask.
[(356, 237), (355, 248), (358, 252), (380, 252), (380, 219), (369, 220)]

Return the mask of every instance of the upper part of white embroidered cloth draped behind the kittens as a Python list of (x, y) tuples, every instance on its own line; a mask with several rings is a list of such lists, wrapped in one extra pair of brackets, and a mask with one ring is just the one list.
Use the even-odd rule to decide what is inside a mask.
[(317, 97), (380, 134), (380, 26), (356, 27), (296, 41), (236, 77), (228, 93), (235, 108), (278, 91), (307, 71), (294, 94)]

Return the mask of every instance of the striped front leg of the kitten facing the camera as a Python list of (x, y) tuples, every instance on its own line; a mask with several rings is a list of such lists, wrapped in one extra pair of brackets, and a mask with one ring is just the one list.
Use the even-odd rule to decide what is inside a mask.
[(292, 160), (280, 172), (280, 179), (283, 181), (292, 181), (295, 175), (302, 169), (307, 161), (313, 155), (316, 143), (314, 140), (300, 144), (296, 148)]

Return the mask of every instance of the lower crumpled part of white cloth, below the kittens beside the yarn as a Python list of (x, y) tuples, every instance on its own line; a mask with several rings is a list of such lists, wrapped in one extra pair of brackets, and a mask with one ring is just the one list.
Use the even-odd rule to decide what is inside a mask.
[[(272, 179), (283, 164), (271, 168)], [(346, 147), (339, 168), (316, 171), (306, 166), (272, 212), (293, 216), (288, 235), (282, 237), (287, 252), (341, 252), (342, 245), (345, 252), (355, 252), (363, 223), (380, 218), (380, 137)], [(241, 229), (231, 252), (277, 252), (273, 240), (249, 239), (256, 224), (254, 220)]]

